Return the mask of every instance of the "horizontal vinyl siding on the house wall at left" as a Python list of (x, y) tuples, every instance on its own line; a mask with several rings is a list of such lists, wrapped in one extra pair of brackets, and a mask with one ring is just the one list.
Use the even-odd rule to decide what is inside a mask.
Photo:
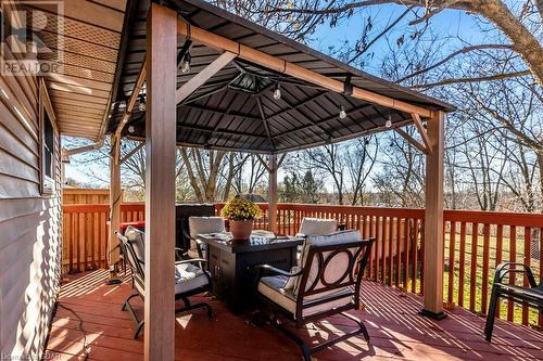
[(61, 159), (40, 194), (38, 82), (0, 76), (0, 356), (41, 356), (60, 284)]

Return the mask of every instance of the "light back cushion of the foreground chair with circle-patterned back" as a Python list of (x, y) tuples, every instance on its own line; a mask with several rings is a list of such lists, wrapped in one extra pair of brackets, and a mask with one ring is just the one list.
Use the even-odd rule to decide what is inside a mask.
[[(302, 254), (300, 255), (300, 267), (304, 270), (308, 269), (307, 281), (304, 292), (310, 289), (324, 289), (328, 285), (337, 283), (349, 276), (346, 273), (351, 266), (350, 260), (355, 257), (359, 247), (342, 248), (342, 243), (352, 243), (361, 240), (361, 233), (357, 230), (340, 231), (326, 235), (308, 236), (302, 246)], [(310, 249), (312, 246), (337, 245), (333, 250), (324, 252), (323, 259), (313, 257), (310, 259)], [(317, 255), (315, 255), (317, 256)], [(320, 265), (324, 262), (324, 265)], [(324, 267), (324, 275), (319, 278), (319, 270)], [(324, 282), (323, 282), (324, 279)], [(300, 293), (301, 276), (294, 283), (294, 294)], [(337, 289), (336, 289), (337, 292)]]

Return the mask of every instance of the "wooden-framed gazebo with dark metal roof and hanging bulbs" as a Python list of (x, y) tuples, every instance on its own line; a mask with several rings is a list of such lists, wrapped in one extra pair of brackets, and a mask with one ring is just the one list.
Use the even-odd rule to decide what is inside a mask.
[[(116, 246), (121, 142), (147, 151), (146, 360), (174, 356), (175, 149), (258, 154), (276, 227), (285, 154), (393, 130), (427, 157), (424, 315), (443, 313), (443, 127), (453, 106), (402, 88), (201, 0), (131, 1), (108, 127)], [(402, 127), (415, 125), (417, 140)], [(65, 132), (70, 134), (70, 131)], [(118, 254), (112, 253), (111, 263)], [(152, 317), (151, 317), (152, 315)]]

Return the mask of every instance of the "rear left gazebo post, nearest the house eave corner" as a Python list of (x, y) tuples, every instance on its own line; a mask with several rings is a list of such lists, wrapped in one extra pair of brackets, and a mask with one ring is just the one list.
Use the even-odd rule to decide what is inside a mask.
[(110, 154), (110, 237), (109, 257), (110, 278), (108, 284), (118, 284), (121, 279), (117, 275), (117, 263), (119, 259), (118, 240), (115, 232), (121, 225), (121, 203), (123, 202), (123, 191), (121, 189), (121, 138), (111, 137)]

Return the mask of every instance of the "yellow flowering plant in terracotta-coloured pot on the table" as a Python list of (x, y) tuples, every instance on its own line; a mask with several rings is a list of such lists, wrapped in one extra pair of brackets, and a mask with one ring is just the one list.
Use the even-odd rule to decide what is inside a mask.
[(253, 202), (236, 196), (225, 205), (220, 215), (229, 220), (235, 240), (249, 240), (253, 221), (262, 217), (262, 210)]

